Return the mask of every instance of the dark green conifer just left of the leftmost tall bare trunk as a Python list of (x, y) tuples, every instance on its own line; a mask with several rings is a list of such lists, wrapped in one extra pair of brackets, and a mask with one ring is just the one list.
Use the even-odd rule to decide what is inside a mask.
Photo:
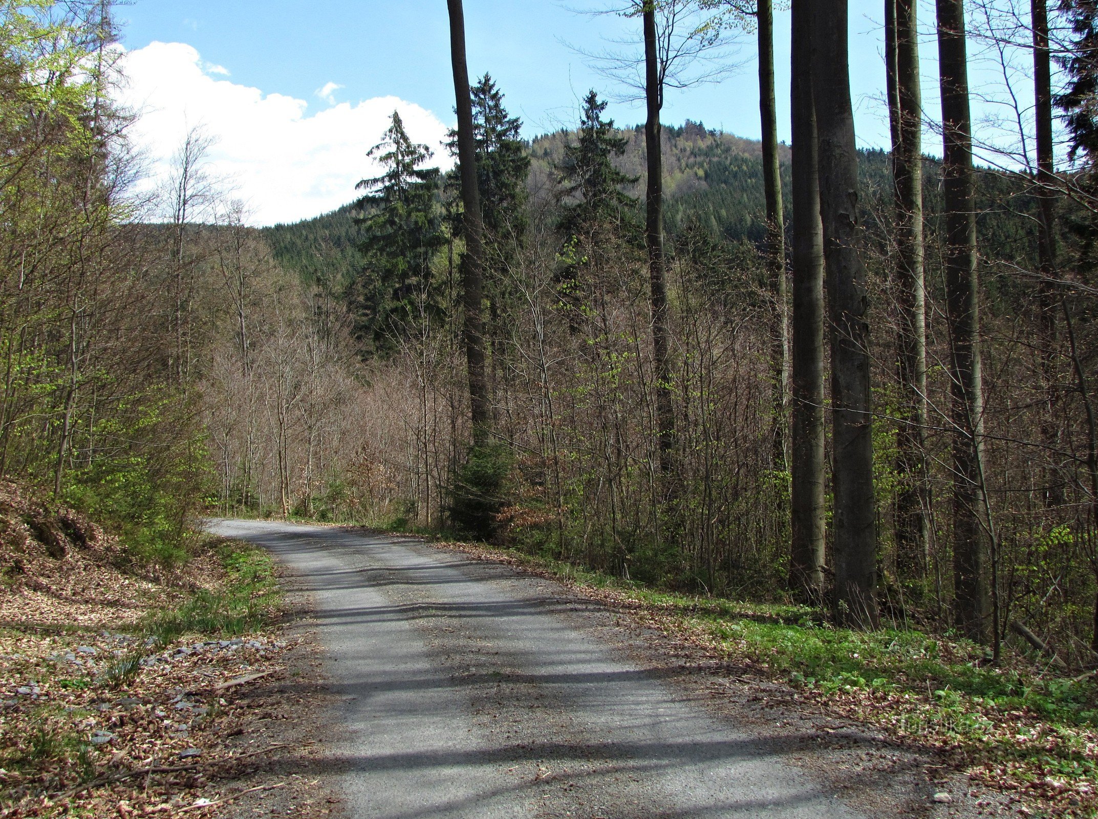
[(369, 191), (356, 202), (365, 263), (348, 301), (358, 337), (368, 349), (385, 351), (401, 333), (441, 311), (430, 285), (430, 260), (442, 245), (439, 171), (423, 167), (432, 150), (412, 142), (395, 111), (368, 156), (384, 172), (357, 186)]

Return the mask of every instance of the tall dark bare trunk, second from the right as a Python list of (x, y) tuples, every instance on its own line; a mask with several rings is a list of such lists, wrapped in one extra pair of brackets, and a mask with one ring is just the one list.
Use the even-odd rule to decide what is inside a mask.
[(952, 382), (953, 615), (966, 637), (984, 642), (988, 613), (985, 538), (978, 513), (983, 472), (979, 283), (964, 4), (963, 0), (937, 0), (937, 9), (944, 148), (945, 306)]

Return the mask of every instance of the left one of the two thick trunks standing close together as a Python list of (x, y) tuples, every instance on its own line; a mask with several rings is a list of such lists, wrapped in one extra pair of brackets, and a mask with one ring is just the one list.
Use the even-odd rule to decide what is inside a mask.
[(793, 0), (793, 402), (789, 583), (824, 591), (824, 226), (811, 85), (811, 0)]

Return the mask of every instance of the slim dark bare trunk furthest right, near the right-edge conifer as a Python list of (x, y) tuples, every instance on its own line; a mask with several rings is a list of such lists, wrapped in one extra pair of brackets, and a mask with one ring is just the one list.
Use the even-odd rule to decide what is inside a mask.
[[(1041, 374), (1044, 380), (1047, 411), (1042, 424), (1044, 445), (1060, 447), (1060, 425), (1056, 423), (1056, 233), (1055, 233), (1055, 167), (1052, 142), (1052, 67), (1049, 58), (1049, 12), (1045, 0), (1031, 0), (1033, 26), (1033, 99), (1037, 119), (1037, 199), (1040, 204), (1038, 253), (1041, 280), (1038, 283), (1038, 332), (1041, 334)], [(1045, 476), (1045, 503), (1058, 506), (1064, 502), (1060, 475), (1049, 470)]]

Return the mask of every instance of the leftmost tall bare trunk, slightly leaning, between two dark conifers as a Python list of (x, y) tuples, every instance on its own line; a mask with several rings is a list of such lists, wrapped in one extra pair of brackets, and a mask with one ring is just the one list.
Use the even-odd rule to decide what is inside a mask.
[(484, 225), (477, 182), (473, 108), (466, 64), (466, 19), (461, 0), (447, 0), (450, 12), (450, 59), (458, 112), (458, 161), (461, 164), (461, 203), (464, 206), (466, 254), (461, 259), (462, 307), (466, 313), (466, 361), (469, 368), (469, 410), (473, 441), (483, 440), (491, 423), (488, 380), (484, 377)]

